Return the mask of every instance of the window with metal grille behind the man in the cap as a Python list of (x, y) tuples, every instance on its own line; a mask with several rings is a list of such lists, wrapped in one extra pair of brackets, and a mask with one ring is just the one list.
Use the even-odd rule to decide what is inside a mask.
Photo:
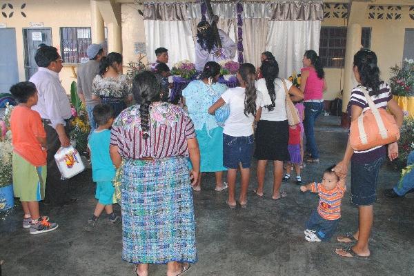
[(60, 32), (63, 63), (88, 62), (86, 49), (92, 43), (90, 27), (62, 27)]

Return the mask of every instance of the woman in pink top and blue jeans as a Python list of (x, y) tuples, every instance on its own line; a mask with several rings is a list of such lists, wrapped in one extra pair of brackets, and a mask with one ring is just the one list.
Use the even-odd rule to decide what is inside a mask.
[(306, 161), (319, 162), (315, 133), (313, 127), (315, 120), (322, 113), (324, 107), (323, 92), (326, 90), (325, 72), (321, 59), (314, 50), (307, 50), (302, 60), (304, 68), (301, 70), (302, 83), (300, 90), (304, 92), (306, 136), (306, 151), (310, 155)]

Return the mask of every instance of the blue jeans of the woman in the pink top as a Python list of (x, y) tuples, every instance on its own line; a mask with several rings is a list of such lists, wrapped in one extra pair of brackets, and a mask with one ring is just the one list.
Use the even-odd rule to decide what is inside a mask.
[(319, 152), (317, 151), (315, 132), (316, 118), (322, 113), (324, 103), (304, 103), (305, 106), (305, 120), (304, 129), (306, 135), (306, 150), (311, 154), (313, 159), (319, 159)]

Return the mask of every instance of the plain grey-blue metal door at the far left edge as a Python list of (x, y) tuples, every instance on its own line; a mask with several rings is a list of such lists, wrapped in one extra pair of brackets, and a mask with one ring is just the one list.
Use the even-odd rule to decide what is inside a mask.
[(14, 28), (0, 28), (0, 49), (0, 93), (3, 93), (9, 92), (10, 86), (19, 81)]

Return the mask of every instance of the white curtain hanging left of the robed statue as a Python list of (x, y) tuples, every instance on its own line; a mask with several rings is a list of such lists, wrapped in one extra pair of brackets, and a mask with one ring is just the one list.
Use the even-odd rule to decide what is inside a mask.
[(168, 49), (168, 66), (183, 59), (195, 60), (192, 23), (186, 21), (144, 20), (148, 62), (157, 58), (154, 50), (159, 47)]

